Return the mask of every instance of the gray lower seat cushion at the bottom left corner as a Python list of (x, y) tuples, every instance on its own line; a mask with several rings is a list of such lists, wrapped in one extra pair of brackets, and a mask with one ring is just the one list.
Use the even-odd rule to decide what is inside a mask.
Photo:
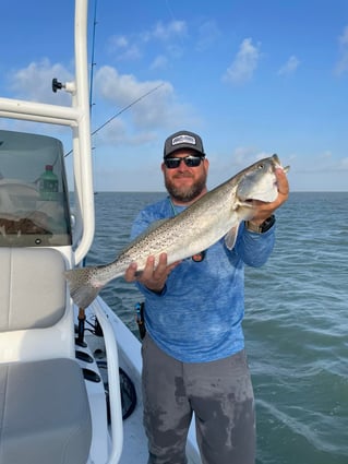
[(85, 464), (88, 398), (73, 359), (0, 365), (0, 463)]

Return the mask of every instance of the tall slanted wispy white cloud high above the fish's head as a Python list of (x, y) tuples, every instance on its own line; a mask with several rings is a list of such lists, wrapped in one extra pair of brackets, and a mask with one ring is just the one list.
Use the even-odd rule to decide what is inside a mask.
[(232, 84), (243, 84), (250, 81), (260, 60), (260, 44), (253, 45), (251, 38), (245, 38), (223, 79)]

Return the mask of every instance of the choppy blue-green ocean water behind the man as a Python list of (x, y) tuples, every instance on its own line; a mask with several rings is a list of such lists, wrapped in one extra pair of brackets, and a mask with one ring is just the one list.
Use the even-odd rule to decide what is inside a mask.
[[(113, 261), (136, 213), (164, 194), (98, 193), (87, 264)], [(101, 295), (137, 334), (135, 287), (120, 278)], [(347, 296), (348, 192), (291, 193), (271, 259), (245, 270), (257, 464), (348, 463)]]

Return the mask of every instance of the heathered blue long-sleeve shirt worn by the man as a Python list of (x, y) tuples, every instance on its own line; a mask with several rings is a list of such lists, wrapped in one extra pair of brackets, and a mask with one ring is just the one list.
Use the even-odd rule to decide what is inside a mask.
[[(179, 213), (183, 207), (176, 207)], [(173, 215), (169, 199), (145, 207), (135, 218), (135, 238), (155, 221)], [(145, 326), (160, 349), (183, 362), (225, 358), (244, 347), (244, 265), (264, 264), (275, 242), (275, 226), (264, 234), (240, 225), (236, 245), (224, 238), (209, 247), (201, 262), (183, 260), (158, 295), (137, 284), (145, 297)]]

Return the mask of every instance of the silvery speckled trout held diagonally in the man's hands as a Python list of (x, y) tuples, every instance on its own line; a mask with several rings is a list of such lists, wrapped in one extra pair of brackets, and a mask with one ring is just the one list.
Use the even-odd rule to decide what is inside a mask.
[[(79, 308), (86, 308), (108, 282), (124, 275), (132, 262), (142, 272), (149, 255), (157, 263), (160, 253), (167, 253), (171, 264), (206, 250), (224, 236), (226, 246), (232, 249), (239, 224), (254, 216), (252, 200), (276, 200), (276, 168), (283, 168), (277, 155), (261, 159), (177, 216), (156, 223), (131, 241), (113, 262), (67, 271), (72, 299)], [(287, 171), (288, 167), (283, 169)]]

